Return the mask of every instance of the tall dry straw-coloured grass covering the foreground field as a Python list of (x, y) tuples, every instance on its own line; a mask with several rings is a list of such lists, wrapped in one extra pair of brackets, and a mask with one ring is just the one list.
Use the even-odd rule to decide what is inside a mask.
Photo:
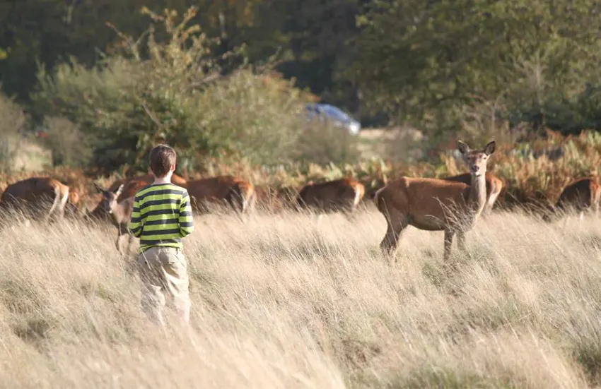
[(185, 239), (192, 331), (139, 310), (116, 231), (0, 232), (3, 388), (585, 388), (601, 383), (601, 225), (496, 213), (442, 263), (383, 217), (198, 217)]

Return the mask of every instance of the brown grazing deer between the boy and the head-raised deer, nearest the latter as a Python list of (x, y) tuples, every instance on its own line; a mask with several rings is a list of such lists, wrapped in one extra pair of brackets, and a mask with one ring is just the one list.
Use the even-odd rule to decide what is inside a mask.
[(365, 196), (365, 186), (356, 179), (337, 179), (334, 181), (309, 183), (298, 192), (296, 203), (300, 209), (313, 209), (320, 213), (342, 212), (351, 217), (357, 205)]

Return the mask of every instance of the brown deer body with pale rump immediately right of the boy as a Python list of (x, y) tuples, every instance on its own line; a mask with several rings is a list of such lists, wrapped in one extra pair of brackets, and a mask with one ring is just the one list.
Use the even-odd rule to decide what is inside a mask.
[(209, 213), (211, 205), (224, 205), (238, 213), (245, 212), (255, 201), (255, 191), (247, 181), (233, 176), (218, 176), (187, 184), (192, 209), (197, 213)]

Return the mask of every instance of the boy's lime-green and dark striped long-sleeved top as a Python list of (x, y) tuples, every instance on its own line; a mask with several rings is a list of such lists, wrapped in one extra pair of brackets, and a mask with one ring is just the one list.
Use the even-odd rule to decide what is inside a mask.
[(153, 246), (182, 249), (193, 229), (188, 192), (174, 184), (151, 184), (134, 198), (129, 229), (140, 238), (140, 252)]

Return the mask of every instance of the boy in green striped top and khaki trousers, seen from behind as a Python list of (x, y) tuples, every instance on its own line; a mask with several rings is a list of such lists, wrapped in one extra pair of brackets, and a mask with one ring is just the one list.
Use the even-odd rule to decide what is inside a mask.
[(189, 323), (187, 263), (182, 238), (193, 230), (192, 209), (185, 188), (171, 184), (177, 155), (168, 145), (150, 152), (154, 182), (134, 198), (129, 229), (140, 238), (138, 255), (142, 282), (142, 308), (153, 321), (164, 325), (165, 292), (173, 299), (182, 322)]

